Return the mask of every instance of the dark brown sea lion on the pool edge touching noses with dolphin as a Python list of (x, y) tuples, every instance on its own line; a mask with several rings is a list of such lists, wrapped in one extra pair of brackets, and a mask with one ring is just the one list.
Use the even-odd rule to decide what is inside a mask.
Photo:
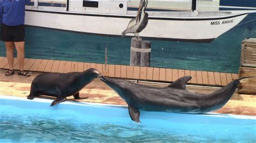
[(75, 99), (83, 99), (79, 97), (79, 91), (99, 76), (101, 74), (94, 68), (83, 72), (43, 73), (32, 81), (28, 99), (40, 95), (57, 97), (51, 106), (66, 101), (66, 97), (71, 95)]

